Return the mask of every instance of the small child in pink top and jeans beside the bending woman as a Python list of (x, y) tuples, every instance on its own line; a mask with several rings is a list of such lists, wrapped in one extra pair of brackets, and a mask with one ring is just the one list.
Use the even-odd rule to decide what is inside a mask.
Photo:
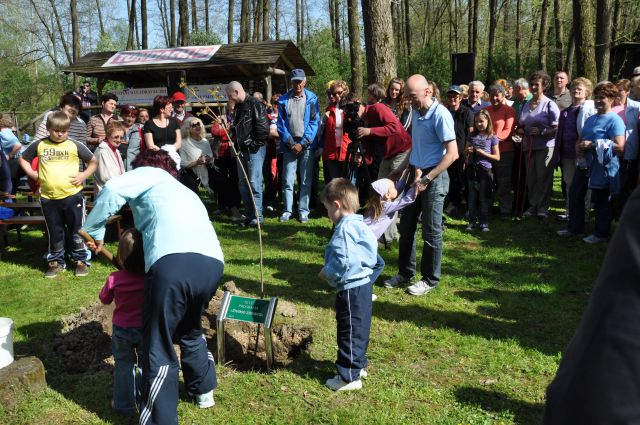
[(111, 338), (115, 360), (111, 407), (118, 413), (132, 415), (137, 410), (140, 393), (141, 373), (137, 364), (142, 354), (142, 295), (145, 280), (142, 235), (136, 229), (129, 229), (122, 234), (118, 260), (123, 270), (109, 275), (100, 291), (100, 301), (110, 304), (115, 299), (116, 303)]

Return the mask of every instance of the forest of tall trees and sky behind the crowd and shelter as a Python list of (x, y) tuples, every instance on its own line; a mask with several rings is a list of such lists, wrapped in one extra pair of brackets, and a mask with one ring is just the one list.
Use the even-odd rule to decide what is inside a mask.
[[(115, 7), (114, 7), (115, 4)], [(422, 73), (449, 84), (451, 53), (476, 76), (566, 70), (609, 76), (611, 46), (640, 41), (640, 0), (0, 0), (0, 111), (38, 113), (77, 87), (64, 68), (92, 51), (291, 39), (316, 92)], [(24, 122), (24, 121), (23, 121)]]

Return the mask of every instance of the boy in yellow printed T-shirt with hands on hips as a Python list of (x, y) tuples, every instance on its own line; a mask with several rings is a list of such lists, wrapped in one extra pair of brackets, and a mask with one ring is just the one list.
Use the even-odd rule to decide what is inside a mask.
[[(40, 203), (49, 233), (48, 268), (44, 276), (54, 278), (65, 269), (64, 232), (71, 234), (71, 258), (76, 263), (76, 276), (89, 273), (90, 252), (78, 230), (85, 217), (85, 200), (82, 185), (96, 170), (93, 153), (82, 143), (67, 139), (71, 121), (62, 111), (49, 114), (49, 137), (29, 145), (20, 157), (20, 166), (27, 176), (40, 181)], [(38, 158), (38, 170), (31, 168), (31, 161)], [(88, 163), (80, 172), (80, 160)]]

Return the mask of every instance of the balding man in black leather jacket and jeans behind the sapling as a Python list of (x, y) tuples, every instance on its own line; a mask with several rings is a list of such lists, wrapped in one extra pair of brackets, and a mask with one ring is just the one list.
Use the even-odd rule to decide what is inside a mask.
[(247, 220), (245, 226), (257, 227), (262, 224), (262, 164), (266, 155), (266, 143), (269, 136), (269, 123), (264, 105), (259, 100), (249, 96), (237, 81), (227, 84), (227, 98), (233, 101), (235, 117), (231, 128), (231, 139), (240, 153), (242, 165), (247, 172), (251, 193), (244, 175), (238, 173), (238, 186), (242, 195)]

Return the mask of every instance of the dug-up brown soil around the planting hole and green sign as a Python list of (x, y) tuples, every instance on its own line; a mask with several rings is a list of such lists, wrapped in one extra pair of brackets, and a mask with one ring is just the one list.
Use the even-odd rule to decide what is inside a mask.
[[(241, 293), (233, 282), (222, 285), (224, 290)], [(202, 328), (207, 346), (217, 360), (216, 318), (222, 302), (222, 290), (218, 290), (204, 315)], [(295, 312), (295, 306), (285, 302), (287, 310)], [(62, 330), (49, 346), (52, 360), (59, 362), (69, 373), (85, 373), (110, 370), (113, 366), (111, 353), (111, 318), (113, 304), (93, 304), (77, 314), (61, 318)], [(280, 311), (280, 307), (278, 307)], [(279, 324), (272, 330), (274, 366), (289, 365), (313, 341), (310, 329), (288, 324)], [(257, 345), (256, 345), (257, 344)], [(176, 345), (179, 354), (179, 347)], [(253, 323), (225, 322), (226, 362), (238, 370), (266, 370), (264, 329)]]

